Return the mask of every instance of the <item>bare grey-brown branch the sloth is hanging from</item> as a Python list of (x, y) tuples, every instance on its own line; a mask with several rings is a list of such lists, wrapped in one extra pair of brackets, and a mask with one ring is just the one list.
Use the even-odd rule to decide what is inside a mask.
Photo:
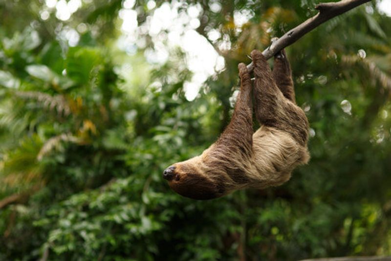
[[(369, 1), (370, 0), (342, 0), (339, 2), (319, 3), (317, 6), (315, 6), (315, 9), (319, 10), (319, 13), (299, 24), (295, 28), (289, 30), (281, 38), (273, 42), (269, 47), (263, 50), (263, 56), (266, 59), (272, 58), (277, 52), (286, 46), (295, 43), (303, 35), (312, 31), (312, 29), (319, 26), (320, 24)], [(253, 63), (247, 65), (247, 68), (249, 71), (252, 71), (254, 69)]]

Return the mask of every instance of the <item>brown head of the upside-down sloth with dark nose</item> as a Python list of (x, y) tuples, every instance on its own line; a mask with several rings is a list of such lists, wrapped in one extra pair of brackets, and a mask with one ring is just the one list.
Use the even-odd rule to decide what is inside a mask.
[(206, 176), (195, 162), (187, 160), (175, 163), (163, 172), (171, 189), (181, 196), (193, 199), (212, 199), (224, 195), (221, 186)]

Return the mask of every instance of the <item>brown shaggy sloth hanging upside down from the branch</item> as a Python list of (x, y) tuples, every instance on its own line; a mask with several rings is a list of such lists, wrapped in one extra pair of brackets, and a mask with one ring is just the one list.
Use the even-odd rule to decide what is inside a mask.
[[(308, 162), (308, 120), (296, 105), (285, 51), (274, 57), (273, 72), (261, 51), (253, 50), (251, 57), (255, 79), (246, 65), (238, 65), (240, 92), (231, 122), (217, 141), (201, 155), (164, 171), (179, 195), (212, 199), (245, 188), (279, 186), (295, 167)], [(252, 94), (261, 124), (255, 132)]]

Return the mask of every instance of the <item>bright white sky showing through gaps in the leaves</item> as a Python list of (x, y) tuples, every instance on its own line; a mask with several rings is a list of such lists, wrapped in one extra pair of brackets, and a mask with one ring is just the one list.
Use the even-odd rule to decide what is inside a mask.
[[(46, 6), (56, 9), (56, 17), (66, 21), (70, 16), (81, 7), (81, 0), (46, 0)], [(119, 13), (122, 20), (121, 30), (123, 36), (119, 39), (119, 47), (127, 50), (129, 54), (133, 54), (138, 47), (143, 47), (143, 43), (138, 42), (138, 32), (140, 28), (137, 23), (137, 12), (134, 10), (134, 0), (125, 0), (123, 9)], [(194, 100), (200, 87), (205, 80), (217, 71), (224, 69), (224, 59), (219, 56), (213, 46), (195, 29), (199, 26), (197, 19), (201, 7), (198, 4), (192, 5), (187, 9), (187, 12), (178, 13), (180, 3), (170, 5), (163, 3), (159, 8), (154, 10), (147, 29), (155, 43), (154, 50), (147, 50), (145, 56), (147, 61), (152, 64), (164, 64), (169, 58), (170, 49), (181, 46), (186, 53), (187, 66), (193, 72), (191, 81), (185, 82), (184, 90), (188, 100)], [(152, 9), (156, 3), (149, 1), (147, 7)], [(385, 14), (391, 16), (391, 0), (382, 0), (379, 8)], [(216, 6), (219, 10), (220, 6)], [(42, 13), (43, 19), (46, 20), (47, 13)], [(235, 24), (239, 27), (247, 22), (252, 17), (251, 12), (242, 11), (234, 14)], [(160, 32), (168, 31), (165, 37), (162, 37)], [(65, 33), (71, 45), (76, 45), (75, 40), (79, 37), (75, 36), (76, 31)], [(164, 34), (165, 35), (165, 34)], [(208, 33), (210, 41), (215, 41), (219, 35), (216, 31), (211, 30)], [(220, 47), (230, 47), (229, 43), (221, 44)]]

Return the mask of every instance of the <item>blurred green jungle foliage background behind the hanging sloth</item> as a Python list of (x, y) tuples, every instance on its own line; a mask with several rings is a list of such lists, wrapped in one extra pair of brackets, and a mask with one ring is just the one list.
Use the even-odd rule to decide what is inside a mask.
[(286, 48), (311, 127), (287, 183), (195, 201), (162, 179), (316, 3), (0, 0), (0, 260), (391, 255), (390, 0)]

